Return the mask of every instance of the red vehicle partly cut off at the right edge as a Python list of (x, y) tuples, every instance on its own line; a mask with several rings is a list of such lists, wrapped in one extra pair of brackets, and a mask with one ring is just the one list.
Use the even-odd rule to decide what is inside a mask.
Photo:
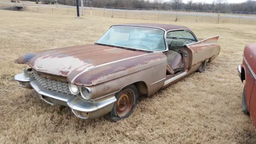
[(237, 67), (241, 81), (245, 81), (242, 95), (242, 110), (250, 115), (256, 127), (256, 43), (244, 48), (243, 62)]

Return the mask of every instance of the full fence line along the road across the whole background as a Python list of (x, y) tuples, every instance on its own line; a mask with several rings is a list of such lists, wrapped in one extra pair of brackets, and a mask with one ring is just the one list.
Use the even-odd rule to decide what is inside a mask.
[[(0, 9), (18, 10), (25, 12), (68, 14), (76, 15), (75, 6), (46, 5), (35, 3), (0, 3)], [(207, 23), (232, 23), (256, 25), (256, 12), (234, 12), (216, 10), (167, 10), (167, 9), (140, 9), (140, 8), (90, 8), (80, 7), (80, 15), (104, 16), (109, 18), (132, 18), (143, 20), (164, 20), (172, 22), (207, 22)]]

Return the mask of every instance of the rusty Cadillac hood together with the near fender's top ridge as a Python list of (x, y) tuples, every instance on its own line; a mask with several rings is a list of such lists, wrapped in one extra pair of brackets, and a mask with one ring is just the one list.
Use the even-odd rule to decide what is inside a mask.
[(37, 72), (66, 77), (68, 82), (84, 86), (114, 80), (163, 62), (166, 63), (166, 56), (162, 52), (93, 44), (29, 53), (15, 60)]

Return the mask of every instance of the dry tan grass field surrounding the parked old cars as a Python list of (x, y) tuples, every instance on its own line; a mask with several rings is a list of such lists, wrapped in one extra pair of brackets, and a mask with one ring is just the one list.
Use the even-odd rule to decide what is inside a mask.
[[(148, 98), (139, 98), (130, 118), (84, 120), (69, 108), (51, 106), (20, 88), (14, 64), (33, 51), (92, 44), (112, 24), (146, 22), (184, 25), (199, 38), (220, 35), (220, 55), (194, 73)], [(256, 133), (241, 111), (243, 84), (236, 66), (254, 25), (168, 22), (0, 10), (1, 144), (255, 144)]]

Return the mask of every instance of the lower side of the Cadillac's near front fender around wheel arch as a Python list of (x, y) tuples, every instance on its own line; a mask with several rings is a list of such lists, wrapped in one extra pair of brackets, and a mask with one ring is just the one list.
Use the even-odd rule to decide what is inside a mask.
[(156, 66), (98, 84), (95, 86), (96, 91), (93, 94), (93, 97), (104, 97), (109, 94), (114, 94), (125, 86), (137, 82), (142, 82), (146, 85), (147, 96), (150, 96), (162, 88), (165, 78), (166, 62), (163, 62)]

